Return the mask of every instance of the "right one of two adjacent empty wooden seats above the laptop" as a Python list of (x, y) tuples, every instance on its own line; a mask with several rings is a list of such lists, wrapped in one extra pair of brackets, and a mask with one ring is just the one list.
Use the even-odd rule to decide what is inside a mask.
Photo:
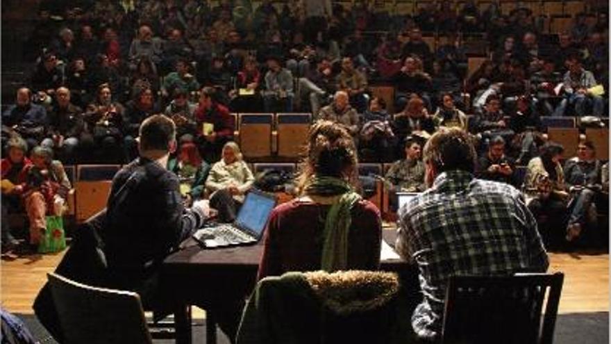
[(310, 113), (278, 113), (276, 115), (276, 145), (278, 156), (296, 160), (308, 140)]

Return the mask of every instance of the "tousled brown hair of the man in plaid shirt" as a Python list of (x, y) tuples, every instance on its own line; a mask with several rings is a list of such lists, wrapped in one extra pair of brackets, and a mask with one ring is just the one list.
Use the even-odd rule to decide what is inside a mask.
[(469, 134), (451, 128), (433, 134), (422, 153), (425, 163), (433, 164), (437, 173), (462, 170), (473, 173), (477, 154)]

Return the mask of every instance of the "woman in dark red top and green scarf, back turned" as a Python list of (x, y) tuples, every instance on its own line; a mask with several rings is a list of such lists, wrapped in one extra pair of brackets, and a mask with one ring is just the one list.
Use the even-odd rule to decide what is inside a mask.
[(300, 196), (271, 213), (258, 279), (287, 271), (378, 268), (382, 220), (378, 208), (355, 193), (357, 167), (354, 142), (343, 126), (312, 125)]

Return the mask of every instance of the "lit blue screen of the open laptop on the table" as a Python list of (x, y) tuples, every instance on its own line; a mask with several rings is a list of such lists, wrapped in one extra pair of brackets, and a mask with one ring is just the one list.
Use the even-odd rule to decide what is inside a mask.
[(251, 231), (251, 234), (258, 238), (263, 229), (265, 229), (269, 213), (271, 213), (275, 205), (276, 199), (274, 197), (251, 191), (246, 194), (246, 199), (244, 204), (242, 204), (242, 208), (237, 213), (235, 222), (239, 227)]

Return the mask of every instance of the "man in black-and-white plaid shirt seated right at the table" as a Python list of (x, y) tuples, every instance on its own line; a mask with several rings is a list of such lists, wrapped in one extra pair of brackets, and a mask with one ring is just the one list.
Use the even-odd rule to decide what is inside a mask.
[(399, 209), (396, 249), (419, 267), (424, 300), (412, 327), (419, 338), (435, 340), (450, 276), (544, 272), (549, 261), (521, 193), (474, 178), (476, 152), (467, 133), (435, 133), (423, 158), (429, 188)]

